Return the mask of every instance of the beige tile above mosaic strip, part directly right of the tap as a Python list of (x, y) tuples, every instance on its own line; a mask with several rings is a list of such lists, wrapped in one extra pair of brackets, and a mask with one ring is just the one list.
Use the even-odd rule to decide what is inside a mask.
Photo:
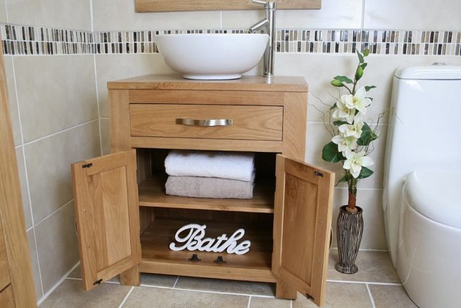
[(276, 16), (277, 29), (361, 27), (362, 0), (322, 0), (320, 10), (280, 10)]

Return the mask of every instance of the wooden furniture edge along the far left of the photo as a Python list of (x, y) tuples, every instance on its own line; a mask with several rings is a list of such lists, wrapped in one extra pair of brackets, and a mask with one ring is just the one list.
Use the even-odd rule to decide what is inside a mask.
[(0, 48), (0, 307), (36, 307)]

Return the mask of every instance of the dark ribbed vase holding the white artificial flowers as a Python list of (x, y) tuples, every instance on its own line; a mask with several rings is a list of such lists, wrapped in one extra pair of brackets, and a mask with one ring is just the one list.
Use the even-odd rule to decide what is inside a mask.
[(363, 210), (357, 207), (358, 212), (351, 213), (346, 210), (346, 207), (347, 205), (343, 205), (339, 208), (338, 222), (336, 222), (339, 262), (334, 265), (334, 268), (343, 274), (355, 274), (358, 271), (355, 258), (363, 233)]

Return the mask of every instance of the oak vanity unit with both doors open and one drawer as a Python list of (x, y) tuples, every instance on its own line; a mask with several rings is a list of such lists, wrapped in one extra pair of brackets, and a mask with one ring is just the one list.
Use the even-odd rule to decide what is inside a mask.
[[(72, 165), (84, 288), (171, 274), (273, 282), (277, 297), (321, 305), (334, 174), (303, 162), (307, 90), (302, 77), (108, 82), (112, 154)], [(254, 152), (253, 198), (166, 195), (170, 149)], [(243, 228), (250, 251), (170, 250), (191, 223), (211, 238)]]

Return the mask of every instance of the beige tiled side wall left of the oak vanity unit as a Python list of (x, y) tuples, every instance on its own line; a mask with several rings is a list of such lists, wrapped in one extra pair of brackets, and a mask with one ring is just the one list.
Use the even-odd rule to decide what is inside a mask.
[[(0, 23), (7, 25), (90, 33), (90, 20), (89, 1), (7, 0), (0, 4)], [(4, 43), (30, 41), (41, 34), (29, 27), (24, 32), (21, 28), (7, 34), (7, 30), (4, 27), (1, 34)], [(30, 50), (29, 44), (23, 48)], [(78, 262), (70, 163), (101, 155), (94, 56), (11, 56), (8, 48), (6, 53), (25, 224), (40, 300)]]

